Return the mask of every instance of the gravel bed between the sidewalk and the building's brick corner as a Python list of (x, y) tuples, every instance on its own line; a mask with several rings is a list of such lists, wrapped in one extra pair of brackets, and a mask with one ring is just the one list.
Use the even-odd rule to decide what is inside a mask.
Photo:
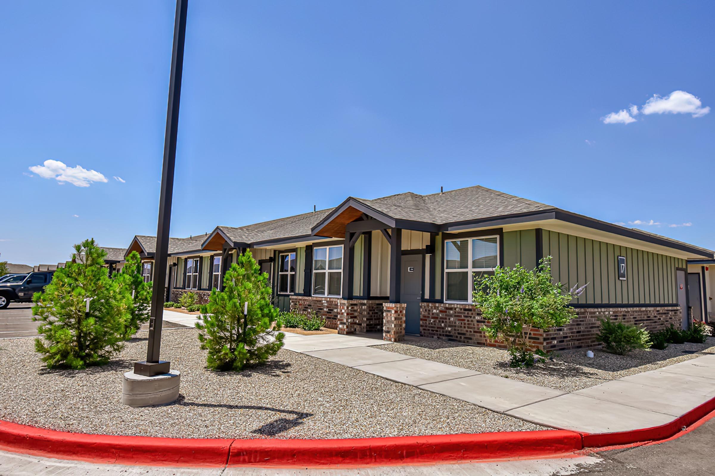
[(606, 380), (616, 380), (715, 353), (715, 338), (708, 338), (704, 344), (671, 344), (665, 350), (633, 350), (628, 355), (613, 355), (592, 349), (594, 358), (587, 358), (586, 350), (569, 350), (554, 353), (553, 360), (546, 363), (523, 369), (509, 367), (506, 350), (444, 340), (412, 340), (380, 345), (379, 349), (573, 392)]

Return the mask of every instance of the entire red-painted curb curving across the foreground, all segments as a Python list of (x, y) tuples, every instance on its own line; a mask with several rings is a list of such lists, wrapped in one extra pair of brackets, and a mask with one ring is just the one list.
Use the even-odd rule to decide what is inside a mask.
[(541, 430), (347, 440), (85, 435), (0, 420), (0, 450), (63, 460), (170, 467), (365, 467), (518, 460), (665, 440), (714, 411), (715, 398), (666, 425), (597, 435)]

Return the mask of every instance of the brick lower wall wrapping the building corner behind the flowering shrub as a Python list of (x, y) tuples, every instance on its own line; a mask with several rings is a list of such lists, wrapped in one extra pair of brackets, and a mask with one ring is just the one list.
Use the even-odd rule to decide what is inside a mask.
[[(593, 348), (601, 345), (596, 335), (601, 328), (598, 318), (610, 317), (631, 325), (643, 325), (648, 330), (661, 330), (673, 324), (679, 328), (681, 309), (662, 308), (577, 308), (578, 316), (563, 328), (546, 332), (532, 329), (529, 340), (533, 348), (546, 351)], [(480, 310), (469, 304), (421, 303), (420, 333), (425, 337), (455, 342), (504, 348), (488, 340), (483, 326), (487, 321)]]

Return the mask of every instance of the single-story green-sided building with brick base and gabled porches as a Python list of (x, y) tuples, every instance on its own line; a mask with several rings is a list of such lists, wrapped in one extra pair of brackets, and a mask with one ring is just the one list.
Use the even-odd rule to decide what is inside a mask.
[[(606, 315), (651, 330), (688, 325), (688, 260), (715, 259), (705, 248), (481, 186), (349, 197), (336, 208), (217, 226), (172, 243), (172, 300), (192, 290), (205, 302), (237, 253), (251, 250), (282, 310), (315, 311), (343, 334), (480, 345), (495, 344), (471, 303), (473, 275), (516, 263), (533, 268), (551, 256), (555, 281), (588, 286), (573, 300), (578, 318), (571, 324), (533, 333), (544, 350), (596, 345), (598, 318)], [(154, 246), (154, 238), (137, 236), (127, 253), (149, 260)]]

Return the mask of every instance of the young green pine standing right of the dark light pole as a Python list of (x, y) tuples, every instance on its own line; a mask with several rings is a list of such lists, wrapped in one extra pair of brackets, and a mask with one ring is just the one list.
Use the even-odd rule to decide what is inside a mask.
[(209, 369), (242, 370), (265, 363), (283, 346), (285, 334), (277, 332), (278, 310), (271, 304), (267, 281), (267, 273), (260, 272), (251, 252), (246, 251), (227, 270), (223, 290), (211, 291), (209, 303), (202, 306), (204, 323), (196, 325), (202, 331), (201, 348), (209, 351)]

